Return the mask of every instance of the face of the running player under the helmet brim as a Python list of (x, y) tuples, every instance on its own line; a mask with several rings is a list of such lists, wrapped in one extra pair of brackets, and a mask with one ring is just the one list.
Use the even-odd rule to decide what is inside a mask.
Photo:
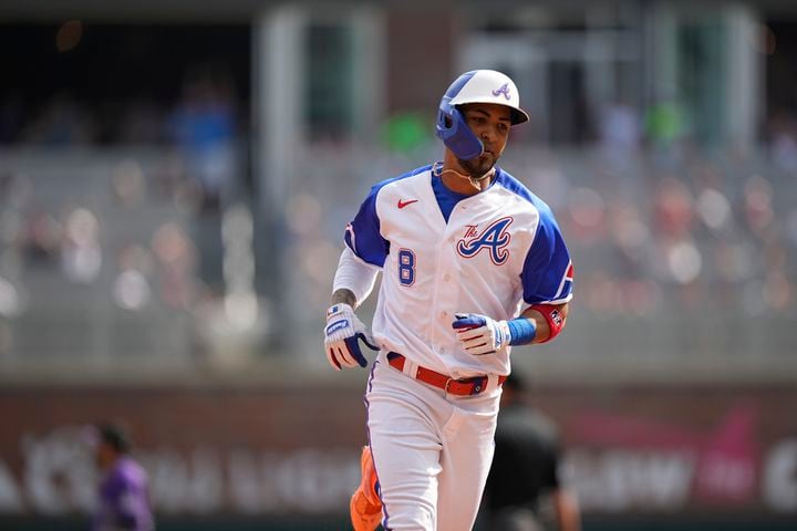
[(468, 127), (484, 144), (484, 153), (480, 156), (470, 160), (458, 160), (472, 177), (482, 177), (500, 158), (509, 139), (510, 113), (509, 107), (496, 103), (470, 103), (463, 106)]

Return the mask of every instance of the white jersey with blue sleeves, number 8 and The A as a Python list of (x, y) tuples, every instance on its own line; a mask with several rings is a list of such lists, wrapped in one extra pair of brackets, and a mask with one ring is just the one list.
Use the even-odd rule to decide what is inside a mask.
[(372, 331), (385, 351), (454, 378), (509, 374), (508, 350), (468, 354), (455, 313), (516, 317), (572, 296), (572, 266), (550, 208), (496, 167), (490, 187), (457, 202), (446, 222), (432, 166), (372, 187), (345, 243), (382, 268)]

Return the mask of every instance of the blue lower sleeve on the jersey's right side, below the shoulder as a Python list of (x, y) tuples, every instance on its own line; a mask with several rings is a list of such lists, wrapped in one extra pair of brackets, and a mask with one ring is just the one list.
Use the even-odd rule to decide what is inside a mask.
[(520, 278), (528, 304), (561, 304), (572, 299), (573, 268), (570, 252), (553, 212), (538, 206), (539, 225)]

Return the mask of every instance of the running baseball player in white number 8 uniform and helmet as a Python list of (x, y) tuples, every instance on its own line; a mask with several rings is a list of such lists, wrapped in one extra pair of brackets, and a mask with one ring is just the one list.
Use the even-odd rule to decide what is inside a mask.
[[(565, 326), (572, 266), (550, 208), (496, 166), (528, 121), (515, 83), (477, 70), (443, 96), (443, 160), (371, 188), (344, 233), (327, 311), (330, 364), (364, 367), (369, 446), (356, 531), (473, 528), (513, 346)], [(373, 335), (354, 310), (382, 272)]]

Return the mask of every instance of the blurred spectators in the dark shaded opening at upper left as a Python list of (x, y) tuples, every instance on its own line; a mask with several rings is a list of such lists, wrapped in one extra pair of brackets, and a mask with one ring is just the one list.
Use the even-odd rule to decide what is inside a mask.
[(59, 90), (44, 101), (19, 91), (0, 98), (0, 145), (80, 147), (177, 144), (196, 148), (235, 138), (246, 118), (224, 65), (186, 69), (174, 98), (139, 95), (86, 100)]

